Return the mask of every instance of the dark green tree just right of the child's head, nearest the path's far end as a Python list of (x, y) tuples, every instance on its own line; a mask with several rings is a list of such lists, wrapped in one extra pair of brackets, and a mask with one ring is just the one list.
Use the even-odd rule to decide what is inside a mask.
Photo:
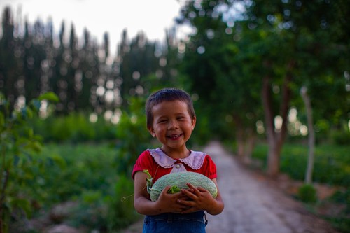
[(245, 41), (239, 40), (241, 25), (224, 20), (232, 7), (226, 1), (188, 1), (179, 22), (195, 27), (196, 33), (186, 44), (181, 72), (187, 74), (186, 86), (199, 95), (197, 109), (211, 119), (207, 125), (211, 136), (217, 132), (216, 136), (225, 139), (235, 137), (237, 155), (249, 162), (256, 139), (255, 122), (261, 118), (260, 90), (255, 76), (246, 69), (250, 51)]

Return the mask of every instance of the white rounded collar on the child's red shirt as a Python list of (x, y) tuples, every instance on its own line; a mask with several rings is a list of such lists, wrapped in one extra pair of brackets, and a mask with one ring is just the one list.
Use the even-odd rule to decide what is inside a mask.
[[(160, 150), (160, 148), (148, 149), (148, 151), (154, 158), (155, 162), (164, 168), (174, 167), (178, 161), (174, 160), (172, 157), (169, 157), (162, 150)], [(206, 155), (207, 153), (204, 152), (190, 150), (190, 155), (188, 155), (188, 157), (179, 160), (187, 164), (192, 169), (197, 170), (202, 167)]]

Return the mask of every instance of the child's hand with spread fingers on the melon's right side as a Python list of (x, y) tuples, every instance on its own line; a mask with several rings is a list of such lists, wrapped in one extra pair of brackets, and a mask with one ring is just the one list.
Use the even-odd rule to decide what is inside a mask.
[(208, 190), (187, 183), (188, 190), (182, 189), (181, 192), (190, 198), (190, 200), (178, 199), (178, 202), (188, 206), (188, 209), (181, 213), (192, 213), (195, 211), (208, 211), (212, 206), (216, 205), (216, 199), (211, 196)]

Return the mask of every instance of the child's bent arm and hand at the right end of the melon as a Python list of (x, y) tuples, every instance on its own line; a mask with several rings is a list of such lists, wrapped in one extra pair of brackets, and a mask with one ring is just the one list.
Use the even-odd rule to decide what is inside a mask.
[[(212, 179), (216, 187), (218, 188), (218, 183), (216, 178)], [(223, 211), (223, 199), (221, 198), (220, 191), (218, 189), (218, 196), (214, 199), (210, 192), (204, 188), (195, 188), (195, 186), (190, 183), (187, 184), (190, 190), (181, 190), (181, 192), (189, 197), (191, 200), (178, 199), (177, 202), (191, 206), (190, 209), (182, 211), (181, 213), (191, 213), (195, 211), (207, 211), (211, 215), (219, 214)]]

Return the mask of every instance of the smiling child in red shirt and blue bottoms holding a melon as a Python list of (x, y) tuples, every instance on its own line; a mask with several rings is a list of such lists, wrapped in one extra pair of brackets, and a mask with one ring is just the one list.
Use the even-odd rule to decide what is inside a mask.
[(146, 188), (147, 169), (153, 183), (171, 172), (194, 171), (216, 182), (216, 164), (206, 153), (188, 150), (186, 142), (195, 129), (193, 102), (187, 92), (165, 88), (151, 94), (146, 102), (147, 128), (162, 146), (139, 155), (132, 171), (134, 178), (134, 207), (146, 215), (146, 232), (205, 232), (204, 211), (211, 215), (223, 211), (218, 190), (216, 199), (204, 188), (188, 183), (188, 189), (169, 194), (167, 186), (157, 201), (152, 202)]

